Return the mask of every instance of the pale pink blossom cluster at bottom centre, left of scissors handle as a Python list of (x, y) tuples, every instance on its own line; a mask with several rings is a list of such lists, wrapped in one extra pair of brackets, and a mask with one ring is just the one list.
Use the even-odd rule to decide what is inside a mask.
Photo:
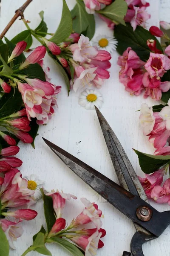
[[(104, 243), (101, 238), (106, 235), (106, 231), (102, 229), (102, 211), (98, 209), (97, 204), (91, 203), (86, 198), (81, 198), (82, 203), (85, 205), (83, 211), (77, 218), (71, 221), (69, 226), (66, 226), (66, 220), (62, 218), (62, 210), (65, 207), (66, 200), (71, 198), (77, 199), (74, 195), (60, 193), (59, 191), (52, 191), (46, 194), (53, 199), (53, 208), (56, 215), (56, 221), (51, 231), (48, 233), (48, 238), (53, 236), (63, 236), (85, 251), (85, 256), (96, 255), (96, 250), (102, 248)], [(86, 224), (91, 223), (94, 225), (91, 229), (86, 229)], [(84, 226), (82, 226), (84, 225)], [(81, 229), (77, 229), (81, 227)], [(67, 234), (65, 231), (67, 230)]]

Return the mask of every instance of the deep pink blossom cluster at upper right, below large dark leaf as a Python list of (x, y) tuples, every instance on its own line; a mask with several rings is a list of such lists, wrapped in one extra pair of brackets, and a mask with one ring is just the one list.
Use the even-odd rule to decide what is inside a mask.
[(147, 62), (141, 61), (139, 56), (128, 47), (117, 64), (121, 67), (119, 81), (125, 85), (125, 90), (131, 95), (138, 96), (144, 91), (144, 98), (160, 100), (162, 92), (170, 89), (169, 81), (161, 81), (161, 77), (170, 70), (170, 46), (165, 49), (164, 55), (156, 49), (156, 41), (148, 40), (148, 47), (153, 51)]

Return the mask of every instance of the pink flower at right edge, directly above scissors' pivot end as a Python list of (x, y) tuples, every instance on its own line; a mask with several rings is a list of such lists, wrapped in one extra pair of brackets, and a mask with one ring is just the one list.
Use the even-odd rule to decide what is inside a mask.
[(153, 188), (151, 198), (158, 204), (168, 203), (170, 205), (170, 178), (164, 182), (163, 187), (158, 185)]

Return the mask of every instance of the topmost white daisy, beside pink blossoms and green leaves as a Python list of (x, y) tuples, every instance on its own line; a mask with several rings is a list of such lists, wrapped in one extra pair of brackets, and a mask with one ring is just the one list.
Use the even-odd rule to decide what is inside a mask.
[(91, 44), (100, 50), (106, 50), (111, 53), (116, 50), (118, 41), (114, 36), (99, 35), (91, 41)]

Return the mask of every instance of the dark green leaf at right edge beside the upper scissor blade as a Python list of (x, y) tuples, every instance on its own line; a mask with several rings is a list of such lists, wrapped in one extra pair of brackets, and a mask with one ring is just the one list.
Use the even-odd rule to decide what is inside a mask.
[(170, 161), (170, 156), (154, 156), (133, 149), (138, 155), (139, 165), (144, 173), (153, 173)]

